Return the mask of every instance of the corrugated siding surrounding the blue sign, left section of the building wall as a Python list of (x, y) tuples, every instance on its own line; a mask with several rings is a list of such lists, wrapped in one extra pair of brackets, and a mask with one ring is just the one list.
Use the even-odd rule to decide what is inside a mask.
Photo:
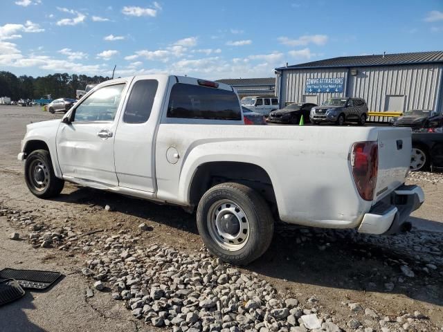
[[(325, 100), (333, 97), (344, 97), (346, 83), (343, 87), (343, 93), (305, 93), (305, 84), (307, 78), (337, 78), (345, 77), (347, 80), (347, 68), (333, 69), (302, 69), (297, 71), (282, 72), (282, 104), (286, 102), (302, 102), (303, 95), (317, 95), (317, 103), (322, 104)], [(278, 86), (276, 87), (278, 91)]]

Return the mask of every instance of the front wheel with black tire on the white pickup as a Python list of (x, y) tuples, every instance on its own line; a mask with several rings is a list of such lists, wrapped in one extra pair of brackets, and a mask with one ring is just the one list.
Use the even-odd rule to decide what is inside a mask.
[[(36, 167), (38, 171), (35, 171)], [(40, 181), (37, 180), (35, 172), (39, 173), (39, 176), (44, 176), (44, 180), (41, 178)], [(57, 196), (64, 187), (64, 180), (55, 176), (51, 155), (46, 150), (35, 150), (26, 158), (25, 181), (30, 192), (39, 199)]]

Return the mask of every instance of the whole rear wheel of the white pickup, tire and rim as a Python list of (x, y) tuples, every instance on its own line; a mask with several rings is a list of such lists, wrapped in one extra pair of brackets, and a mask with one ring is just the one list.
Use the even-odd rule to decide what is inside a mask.
[(197, 228), (213, 255), (230, 264), (246, 265), (269, 248), (274, 221), (269, 205), (251, 187), (221, 183), (201, 198)]

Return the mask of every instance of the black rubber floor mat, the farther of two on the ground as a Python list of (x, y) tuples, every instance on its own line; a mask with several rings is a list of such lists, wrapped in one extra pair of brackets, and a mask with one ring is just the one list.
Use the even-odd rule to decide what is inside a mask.
[(15, 270), (4, 268), (0, 271), (0, 279), (15, 279), (23, 288), (46, 289), (51, 286), (62, 273), (38, 270)]

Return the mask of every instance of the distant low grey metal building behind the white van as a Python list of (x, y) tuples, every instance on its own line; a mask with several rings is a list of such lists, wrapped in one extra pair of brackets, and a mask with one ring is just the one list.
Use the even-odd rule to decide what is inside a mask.
[(237, 91), (239, 98), (247, 95), (269, 95), (275, 96), (275, 78), (232, 78), (226, 80), (217, 80), (216, 82), (225, 83)]

